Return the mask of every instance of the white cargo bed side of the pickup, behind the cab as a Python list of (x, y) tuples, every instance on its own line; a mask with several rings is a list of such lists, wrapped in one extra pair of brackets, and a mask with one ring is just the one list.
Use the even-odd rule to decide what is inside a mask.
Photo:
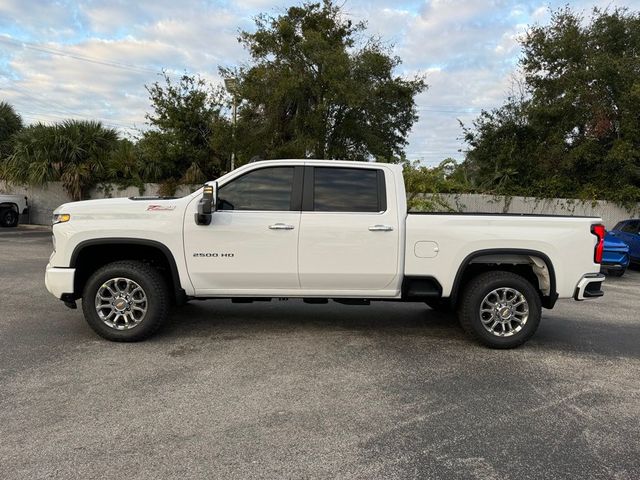
[(405, 275), (429, 272), (451, 295), (458, 270), (479, 256), (515, 255), (520, 261), (546, 262), (560, 298), (573, 296), (585, 273), (600, 271), (594, 262), (598, 217), (563, 215), (410, 212), (406, 218)]

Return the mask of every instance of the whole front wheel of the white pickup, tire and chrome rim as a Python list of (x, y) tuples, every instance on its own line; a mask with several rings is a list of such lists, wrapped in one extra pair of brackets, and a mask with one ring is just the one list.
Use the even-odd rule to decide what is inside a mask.
[(167, 284), (155, 268), (145, 263), (109, 263), (87, 281), (82, 310), (89, 326), (107, 340), (144, 340), (168, 318)]

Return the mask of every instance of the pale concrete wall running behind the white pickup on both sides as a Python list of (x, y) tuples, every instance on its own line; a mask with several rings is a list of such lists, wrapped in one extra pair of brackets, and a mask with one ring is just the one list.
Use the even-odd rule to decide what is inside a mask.
[[(118, 189), (115, 185), (97, 187), (89, 193), (90, 198), (134, 197), (156, 195), (158, 184), (148, 183), (144, 191), (137, 187)], [(176, 196), (188, 195), (197, 187), (180, 187)], [(59, 205), (69, 202), (60, 182), (51, 182), (45, 187), (16, 187), (0, 182), (0, 193), (26, 195), (31, 207), (30, 222), (38, 225), (51, 223), (51, 214)], [(551, 198), (538, 199), (527, 197), (496, 197), (492, 195), (443, 194), (444, 200), (453, 210), (459, 212), (488, 213), (539, 213), (553, 215), (587, 215), (602, 217), (607, 228), (612, 228), (625, 218), (640, 216), (640, 204), (625, 209), (606, 201), (583, 202), (580, 200)]]

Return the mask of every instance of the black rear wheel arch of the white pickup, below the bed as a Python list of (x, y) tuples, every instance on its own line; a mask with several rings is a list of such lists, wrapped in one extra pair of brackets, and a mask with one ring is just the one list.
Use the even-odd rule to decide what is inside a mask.
[(477, 250), (467, 255), (454, 278), (450, 294), (452, 303), (457, 304), (464, 286), (473, 278), (492, 270), (511, 271), (523, 276), (539, 291), (542, 305), (545, 308), (553, 308), (558, 294), (551, 259), (538, 250), (519, 248)]

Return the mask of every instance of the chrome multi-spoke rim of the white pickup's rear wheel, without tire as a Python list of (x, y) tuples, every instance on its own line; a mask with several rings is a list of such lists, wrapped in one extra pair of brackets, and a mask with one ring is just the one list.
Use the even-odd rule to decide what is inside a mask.
[(480, 320), (485, 330), (497, 337), (518, 333), (529, 318), (529, 303), (514, 288), (496, 288), (480, 304)]

